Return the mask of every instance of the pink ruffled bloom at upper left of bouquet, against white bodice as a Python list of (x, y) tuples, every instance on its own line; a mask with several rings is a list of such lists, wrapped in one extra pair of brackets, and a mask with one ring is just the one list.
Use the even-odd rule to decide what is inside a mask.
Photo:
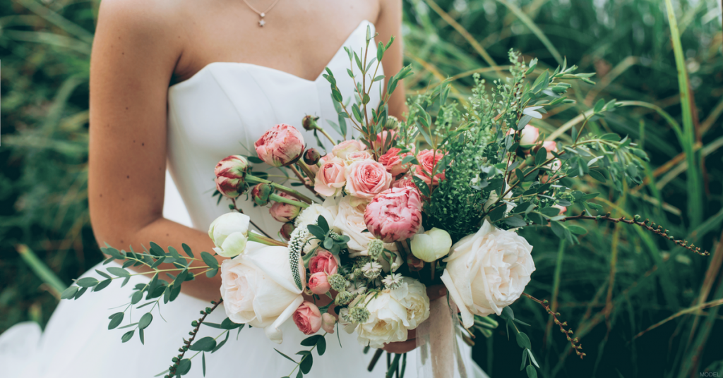
[(288, 166), (304, 153), (304, 137), (294, 126), (278, 124), (265, 132), (254, 143), (254, 148), (269, 166)]

